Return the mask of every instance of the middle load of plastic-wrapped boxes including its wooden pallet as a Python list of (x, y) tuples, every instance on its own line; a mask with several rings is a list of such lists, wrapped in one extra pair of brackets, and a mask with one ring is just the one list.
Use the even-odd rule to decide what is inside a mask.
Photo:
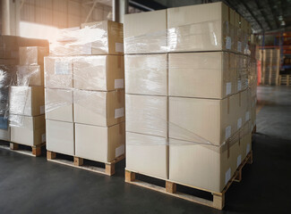
[(47, 159), (113, 175), (124, 159), (123, 25), (86, 23), (72, 36), (45, 58)]

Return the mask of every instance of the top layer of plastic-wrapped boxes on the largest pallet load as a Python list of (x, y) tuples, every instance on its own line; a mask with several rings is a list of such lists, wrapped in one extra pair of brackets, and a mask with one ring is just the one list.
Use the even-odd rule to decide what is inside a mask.
[(229, 50), (250, 54), (249, 28), (247, 21), (223, 3), (127, 14), (124, 53)]

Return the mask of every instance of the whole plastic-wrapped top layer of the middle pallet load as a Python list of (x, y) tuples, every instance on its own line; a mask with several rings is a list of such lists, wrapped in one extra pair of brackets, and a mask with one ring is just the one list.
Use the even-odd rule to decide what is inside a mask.
[(81, 29), (60, 29), (50, 46), (50, 55), (59, 56), (123, 53), (123, 24), (115, 21), (84, 23)]

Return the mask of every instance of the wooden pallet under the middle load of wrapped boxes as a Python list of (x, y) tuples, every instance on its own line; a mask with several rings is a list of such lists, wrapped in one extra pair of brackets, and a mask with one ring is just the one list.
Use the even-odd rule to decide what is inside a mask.
[[(100, 174), (104, 174), (107, 176), (113, 176), (116, 173), (116, 163), (119, 161), (124, 160), (125, 155), (121, 155), (119, 157), (116, 158), (115, 161), (111, 161), (111, 162), (105, 162), (105, 168), (100, 168), (100, 167), (96, 167), (96, 166), (92, 166), (92, 165), (85, 165), (84, 164), (84, 159), (79, 158), (79, 157), (73, 157), (73, 161), (68, 161), (62, 158), (58, 158), (57, 157), (57, 152), (50, 152), (47, 151), (47, 161), (53, 161), (56, 163), (60, 163), (60, 164), (64, 164), (66, 166), (70, 166), (73, 168), (78, 168), (78, 169), (85, 169), (85, 170), (89, 170), (92, 172), (97, 172)], [(98, 161), (94, 161), (94, 162), (98, 162)], [(98, 162), (100, 163), (100, 162)]]

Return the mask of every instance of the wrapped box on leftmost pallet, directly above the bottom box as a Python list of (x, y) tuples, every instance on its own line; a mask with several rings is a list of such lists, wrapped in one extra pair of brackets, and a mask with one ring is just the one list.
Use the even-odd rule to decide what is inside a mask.
[(10, 113), (38, 116), (45, 113), (45, 93), (43, 86), (11, 86)]

